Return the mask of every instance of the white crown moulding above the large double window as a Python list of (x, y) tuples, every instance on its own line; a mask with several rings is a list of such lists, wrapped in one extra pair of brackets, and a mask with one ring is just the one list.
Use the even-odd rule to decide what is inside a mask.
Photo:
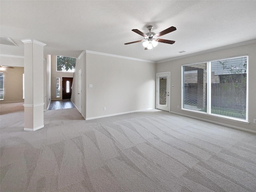
[(239, 47), (239, 46), (248, 45), (248, 44), (252, 44), (252, 43), (256, 43), (256, 39), (246, 41), (246, 42), (236, 43), (236, 44), (232, 44), (232, 45), (227, 45), (227, 46), (223, 46), (223, 47), (218, 47), (218, 48), (214, 48), (214, 49), (209, 49), (209, 50), (205, 50), (205, 51), (201, 51), (201, 52), (196, 52), (196, 53), (192, 53), (192, 54), (188, 54), (188, 55), (184, 55), (184, 56), (180, 56), (180, 57), (174, 57), (174, 58), (170, 58), (170, 59), (166, 59), (166, 60), (162, 60), (162, 61), (157, 61), (156, 64), (168, 62), (168, 61), (172, 61), (172, 60), (177, 60), (177, 59), (181, 59), (181, 58), (186, 58), (186, 57), (190, 57), (190, 56), (196, 56), (196, 55), (200, 55), (200, 54), (204, 54), (204, 53), (220, 51), (220, 50), (224, 50), (224, 49), (228, 49), (228, 48)]

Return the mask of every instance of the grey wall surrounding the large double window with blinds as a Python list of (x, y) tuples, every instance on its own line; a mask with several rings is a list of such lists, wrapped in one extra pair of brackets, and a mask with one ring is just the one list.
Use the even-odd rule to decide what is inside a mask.
[[(227, 48), (224, 50), (209, 52), (205, 54), (199, 54), (196, 56), (190, 56), (186, 58), (180, 58), (168, 62), (156, 64), (157, 72), (171, 72), (171, 112), (176, 112), (184, 115), (193, 116), (196, 118), (202, 118), (209, 121), (214, 121), (220, 124), (227, 124), (238, 128), (244, 128), (248, 130), (256, 131), (256, 124), (253, 123), (253, 119), (256, 119), (256, 43), (248, 44), (244, 46), (238, 46), (234, 48)], [(215, 60), (220, 58), (227, 58), (232, 56), (240, 56), (248, 54), (248, 121), (250, 124), (234, 122), (228, 119), (222, 119), (212, 117), (204, 114), (197, 114), (181, 110), (181, 98), (182, 98), (182, 65), (195, 62), (204, 62), (208, 60)], [(177, 106), (180, 106), (178, 109)]]

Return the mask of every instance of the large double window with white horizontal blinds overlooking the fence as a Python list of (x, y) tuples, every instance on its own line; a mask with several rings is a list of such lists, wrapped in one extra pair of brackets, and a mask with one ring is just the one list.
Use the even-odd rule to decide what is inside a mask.
[(248, 56), (182, 66), (182, 108), (247, 120)]

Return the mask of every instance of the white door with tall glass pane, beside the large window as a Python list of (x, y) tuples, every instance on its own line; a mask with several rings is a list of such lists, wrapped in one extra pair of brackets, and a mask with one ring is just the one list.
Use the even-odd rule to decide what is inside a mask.
[(156, 108), (170, 112), (170, 72), (156, 74)]

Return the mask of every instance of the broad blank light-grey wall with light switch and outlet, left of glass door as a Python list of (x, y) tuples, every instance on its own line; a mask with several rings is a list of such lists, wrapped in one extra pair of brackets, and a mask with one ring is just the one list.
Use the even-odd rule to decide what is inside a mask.
[(86, 53), (84, 75), (86, 119), (155, 108), (155, 63)]

